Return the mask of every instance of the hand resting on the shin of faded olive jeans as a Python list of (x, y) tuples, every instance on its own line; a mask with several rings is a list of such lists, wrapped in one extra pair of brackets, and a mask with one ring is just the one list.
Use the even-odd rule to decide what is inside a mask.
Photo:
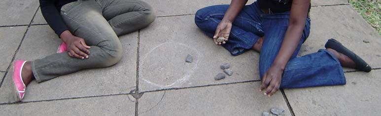
[(70, 57), (85, 59), (89, 58), (90, 55), (90, 46), (87, 46), (85, 40), (72, 35), (69, 31), (66, 30), (61, 34), (61, 38), (67, 44), (67, 50)]

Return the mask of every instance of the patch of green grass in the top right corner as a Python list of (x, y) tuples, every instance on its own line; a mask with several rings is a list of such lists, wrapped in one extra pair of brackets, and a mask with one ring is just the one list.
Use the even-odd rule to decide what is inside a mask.
[(381, 0), (349, 0), (349, 3), (381, 35)]

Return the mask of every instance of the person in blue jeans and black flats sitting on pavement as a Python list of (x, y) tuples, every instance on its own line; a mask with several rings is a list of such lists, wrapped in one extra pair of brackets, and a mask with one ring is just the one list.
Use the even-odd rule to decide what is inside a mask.
[(257, 0), (245, 5), (247, 1), (202, 8), (195, 23), (234, 56), (249, 49), (260, 52), (259, 90), (265, 95), (280, 88), (344, 85), (343, 67), (372, 70), (335, 39), (328, 40), (325, 49), (296, 57), (310, 34), (310, 0)]

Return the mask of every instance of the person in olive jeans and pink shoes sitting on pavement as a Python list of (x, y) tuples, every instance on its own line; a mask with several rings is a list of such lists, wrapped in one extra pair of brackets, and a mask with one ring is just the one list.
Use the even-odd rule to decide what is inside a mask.
[(56, 54), (14, 62), (16, 101), (26, 86), (82, 69), (109, 67), (120, 61), (118, 36), (152, 23), (153, 8), (141, 0), (39, 0), (46, 22), (62, 39)]

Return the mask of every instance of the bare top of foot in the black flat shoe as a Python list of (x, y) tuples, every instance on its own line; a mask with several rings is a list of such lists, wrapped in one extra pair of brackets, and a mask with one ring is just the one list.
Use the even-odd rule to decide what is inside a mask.
[(356, 67), (356, 64), (354, 63), (354, 61), (352, 59), (350, 59), (348, 56), (346, 56), (340, 52), (337, 52), (336, 50), (331, 49), (331, 48), (327, 48), (327, 50), (332, 52), (336, 56), (336, 58), (339, 59), (340, 64), (343, 67), (353, 68), (353, 69)]

